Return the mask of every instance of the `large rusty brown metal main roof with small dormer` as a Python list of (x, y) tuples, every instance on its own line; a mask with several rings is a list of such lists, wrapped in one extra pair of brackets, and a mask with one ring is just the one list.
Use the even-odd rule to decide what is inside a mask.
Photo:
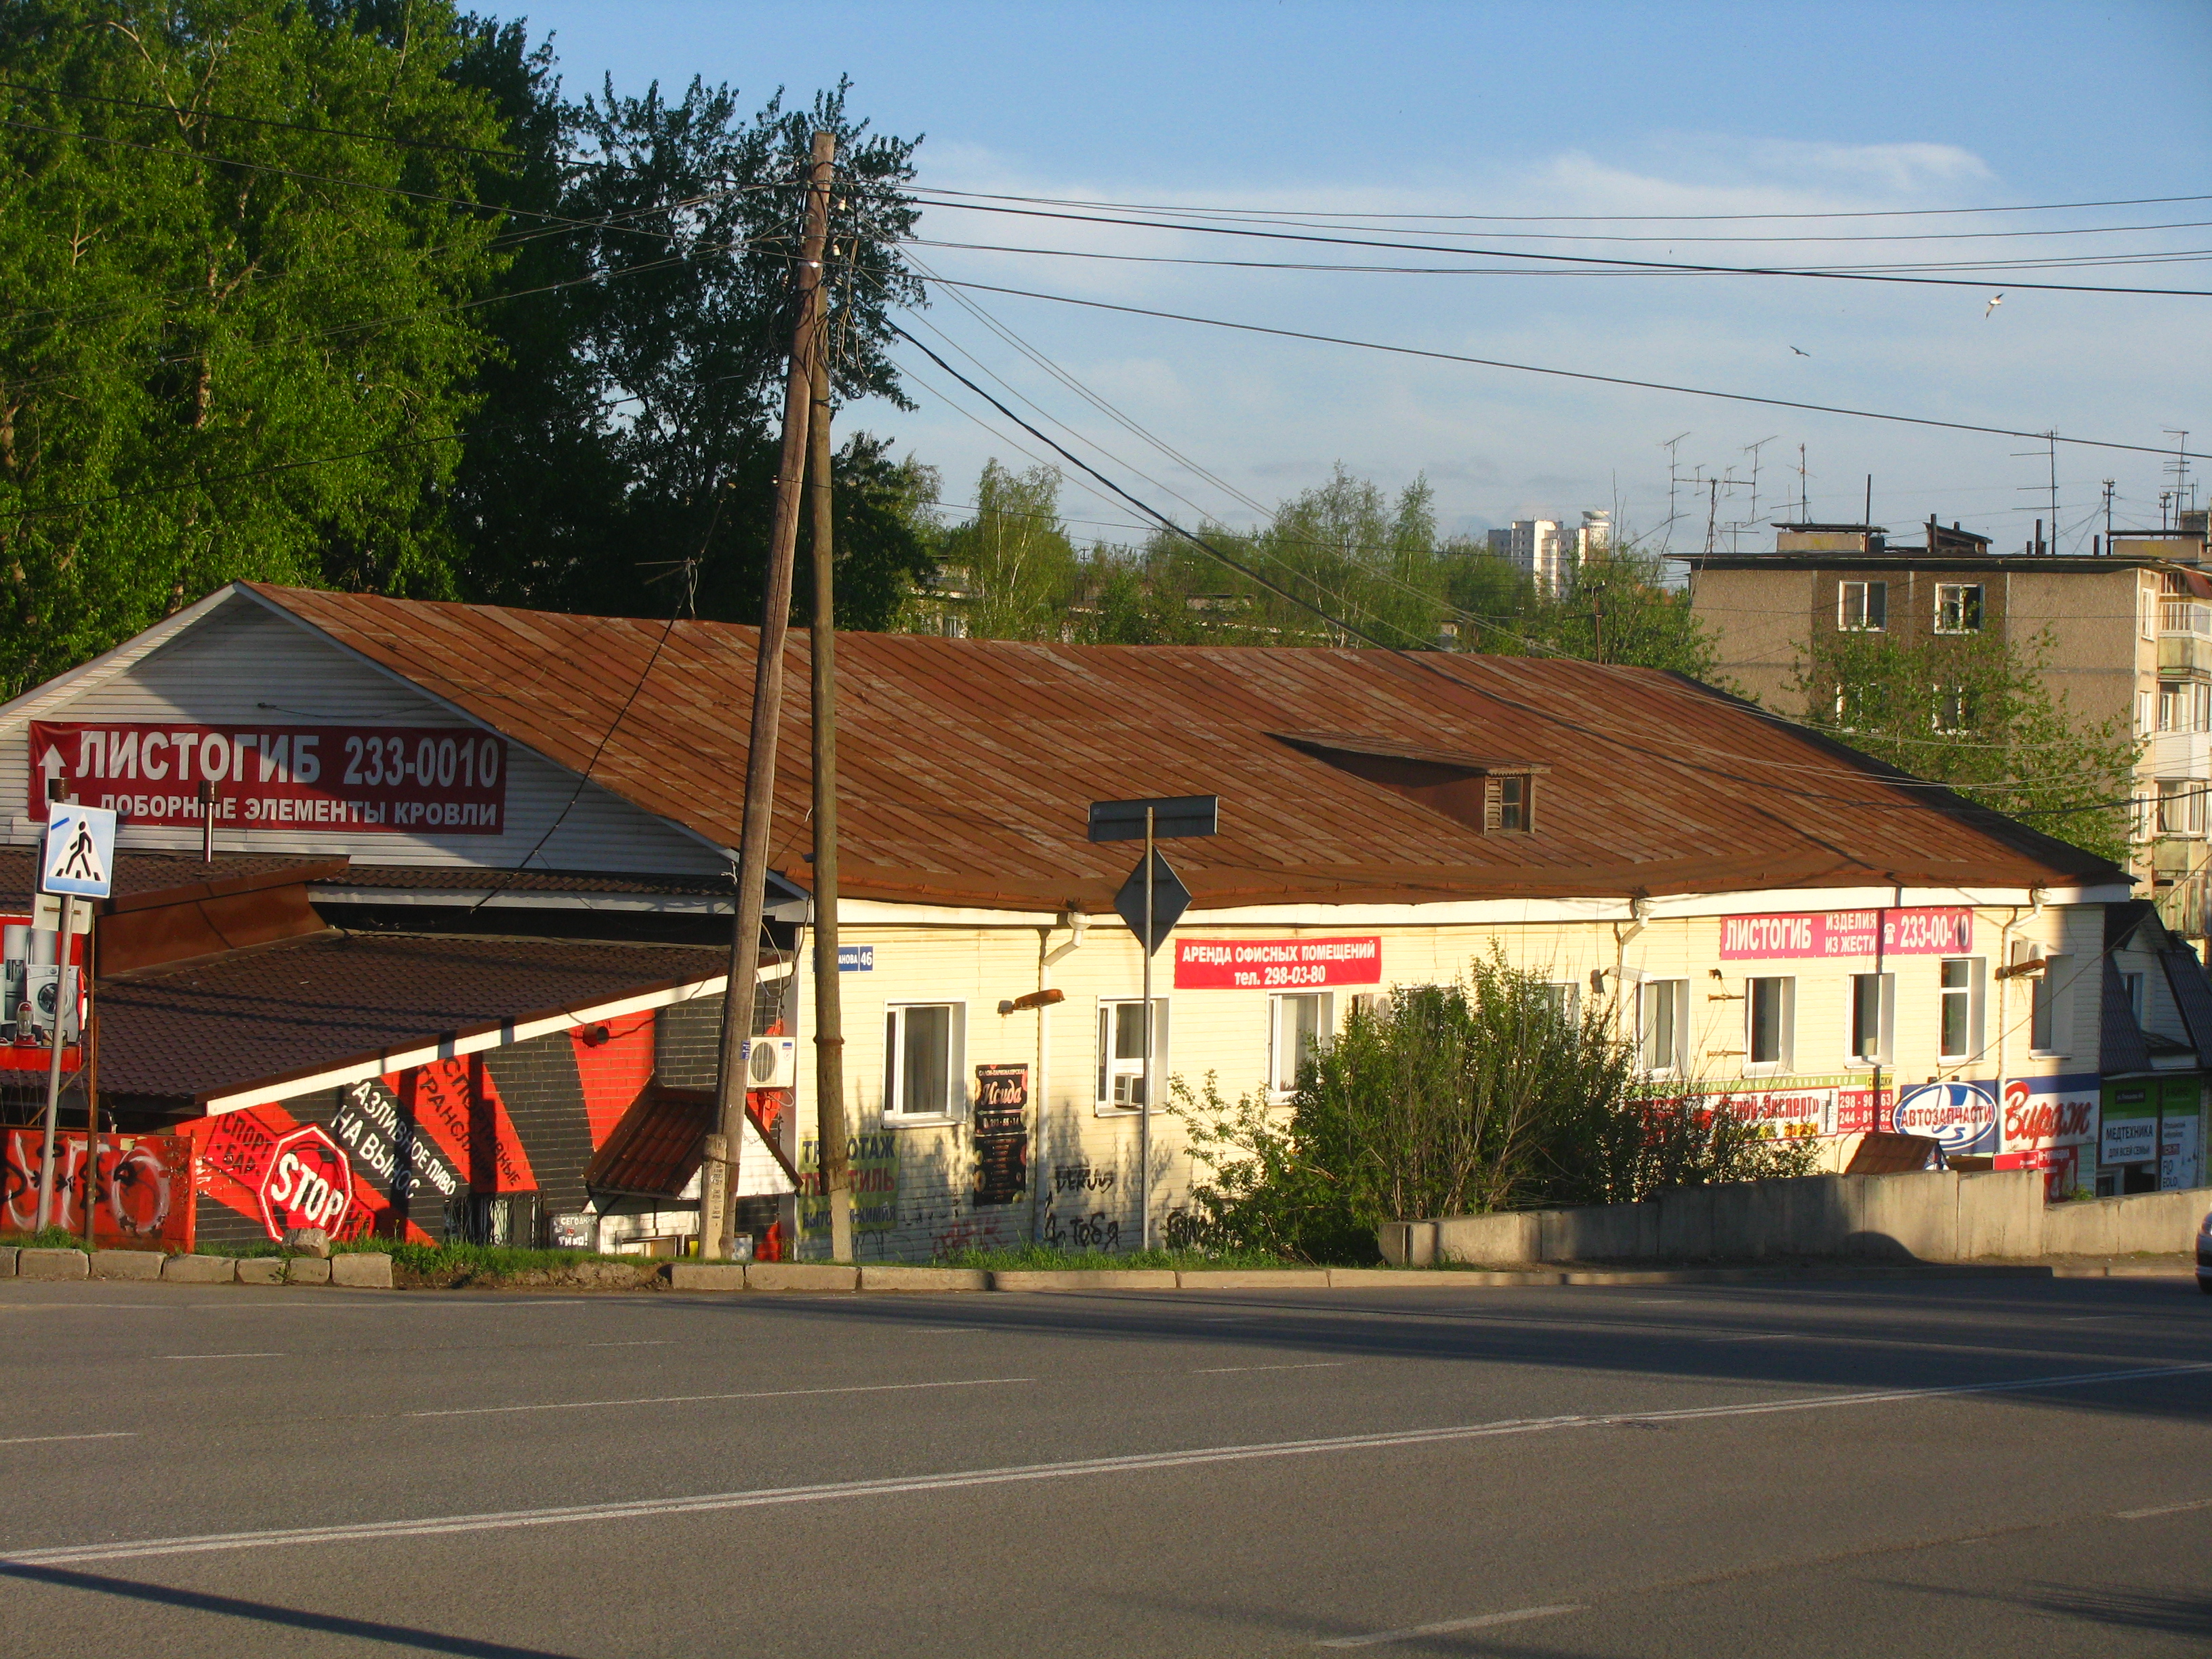
[[(752, 628), (254, 591), (511, 739), (588, 765), (648, 812), (737, 845)], [(1905, 787), (1816, 732), (1644, 668), (841, 635), (838, 679), (852, 896), (1106, 911), (1130, 849), (1091, 845), (1084, 805), (1172, 794), (1221, 796), (1221, 834), (1170, 849), (1201, 909), (2124, 880), (1940, 790)], [(1542, 763), (1535, 832), (1482, 834), (1270, 737), (1285, 728)], [(774, 834), (774, 863), (796, 880), (807, 790), (801, 635), (785, 664)]]

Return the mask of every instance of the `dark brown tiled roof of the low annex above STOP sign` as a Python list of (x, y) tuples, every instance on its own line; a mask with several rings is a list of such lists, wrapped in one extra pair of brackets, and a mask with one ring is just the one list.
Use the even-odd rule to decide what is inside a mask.
[(323, 933), (102, 980), (100, 1088), (192, 1099), (726, 969), (684, 945)]

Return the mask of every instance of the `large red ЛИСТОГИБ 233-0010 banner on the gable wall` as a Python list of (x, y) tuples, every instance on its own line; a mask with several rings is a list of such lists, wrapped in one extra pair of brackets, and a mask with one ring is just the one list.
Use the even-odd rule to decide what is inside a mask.
[(124, 823), (232, 830), (447, 832), (507, 827), (507, 739), (456, 726), (91, 726), (31, 721), (31, 818), (46, 779)]

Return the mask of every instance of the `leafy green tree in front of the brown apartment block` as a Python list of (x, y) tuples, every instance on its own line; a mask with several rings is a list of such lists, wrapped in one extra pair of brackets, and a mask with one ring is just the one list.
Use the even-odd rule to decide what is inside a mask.
[(2112, 863), (2130, 854), (2141, 741), (2088, 721), (2046, 670), (2053, 639), (1834, 630), (1796, 655), (1805, 719), (1865, 754)]

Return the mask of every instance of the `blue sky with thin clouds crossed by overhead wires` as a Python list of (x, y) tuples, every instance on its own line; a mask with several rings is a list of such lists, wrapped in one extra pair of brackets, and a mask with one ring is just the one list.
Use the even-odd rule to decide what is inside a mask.
[[(611, 73), (617, 91), (703, 75), (748, 100), (779, 84), (803, 97), (852, 75), (852, 106), (883, 131), (927, 135), (922, 181), (956, 190), (1272, 215), (1491, 215), (1484, 246), (1725, 263), (2212, 250), (2212, 226), (2190, 223), (2212, 221), (2212, 97), (2203, 91), (2212, 7), (2185, 0), (562, 0), (524, 15), (533, 38), (555, 31), (571, 93)], [(2208, 199), (1874, 221), (1681, 219), (2190, 195)], [(1498, 219), (1509, 215), (1524, 219)], [(1590, 221), (1566, 223), (1562, 215)], [(1416, 241), (1471, 228), (1464, 219), (1376, 223)], [(2053, 228), (2095, 234), (1924, 239)], [(1506, 232), (1526, 241), (1506, 243)], [(1535, 239), (1544, 232), (1652, 241)], [(1747, 234), (1918, 241), (1688, 241)], [(1305, 246), (1285, 254), (1283, 246), (1181, 230), (973, 212), (931, 212), (922, 237), (1155, 259), (1482, 263)], [(1261, 272), (958, 248), (916, 254), (945, 276), (1272, 327), (2139, 445), (2170, 442), (2168, 427), (2188, 427), (2192, 449), (2212, 449), (2212, 299), (2020, 288), (2212, 288), (2212, 259), (1902, 288), (1778, 276)], [(1984, 316), (2000, 290), (2004, 305)], [(1082, 445), (1102, 471), (1186, 520), (1206, 511), (1252, 522), (1239, 498), (1272, 504), (1343, 462), (1394, 489), (1427, 476), (1447, 526), (1619, 504), (1630, 524), (1655, 531), (1670, 504), (1661, 445), (1677, 434), (1686, 434), (1674, 449), (1683, 480), (1734, 473), (1714, 518), (1743, 524), (1736, 535), (1745, 549), (1770, 544), (1763, 522), (1778, 518), (1783, 495), (1796, 489), (1801, 442), (1814, 518), (1858, 518), (1867, 473), (1876, 520), (1891, 526), (1933, 511), (2017, 546), (2031, 520), (2048, 513), (2042, 447), (2017, 438), (1420, 363), (1031, 299), (971, 301), (1183, 460), (1115, 427), (949, 299), (927, 314), (942, 338), (916, 332), (982, 378), (956, 356), (971, 352), (1048, 416), (1104, 445), (1115, 460)], [(949, 511), (973, 500), (987, 456), (1026, 465), (1022, 449), (1044, 453), (920, 356), (909, 361), (920, 411), (860, 407), (843, 418), (894, 434), (900, 449), (940, 467)], [(1759, 451), (1754, 515), (1747, 447), (1761, 438), (1772, 442)], [(2170, 484), (2161, 460), (2146, 453), (2062, 445), (2057, 471), (2068, 546), (2101, 529), (2104, 478), (2115, 480), (2121, 524), (2154, 524), (2159, 491)], [(1130, 522), (1130, 509), (1075, 484), (1062, 500), (1079, 531), (1097, 524), (1088, 533), (1130, 540), (1113, 529)], [(1694, 511), (1688, 489), (1674, 493), (1677, 551), (1703, 544), (1705, 504), (1703, 487)]]

